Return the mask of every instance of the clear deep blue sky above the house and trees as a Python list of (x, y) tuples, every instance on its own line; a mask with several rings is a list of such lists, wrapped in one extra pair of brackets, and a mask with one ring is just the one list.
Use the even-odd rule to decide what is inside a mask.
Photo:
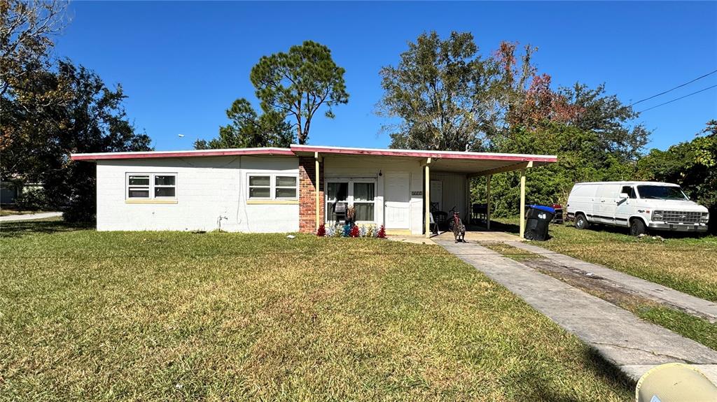
[[(555, 85), (576, 81), (634, 102), (717, 69), (717, 2), (90, 2), (70, 5), (57, 57), (121, 83), (136, 127), (158, 150), (217, 135), (234, 99), (255, 102), (249, 72), (265, 54), (312, 39), (346, 69), (349, 103), (313, 122), (311, 144), (386, 147), (374, 114), (379, 69), (423, 31), (471, 31), (483, 54), (500, 41), (538, 46)], [(636, 105), (717, 84), (717, 74)], [(258, 103), (255, 102), (258, 108)], [(717, 88), (645, 112), (650, 147), (688, 140), (717, 118)], [(178, 134), (184, 134), (179, 137)]]

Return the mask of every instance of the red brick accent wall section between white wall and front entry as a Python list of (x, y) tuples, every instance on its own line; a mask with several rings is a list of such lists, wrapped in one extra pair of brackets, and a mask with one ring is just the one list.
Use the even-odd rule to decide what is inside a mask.
[[(320, 220), (324, 221), (323, 162), (319, 164)], [(313, 233), (316, 230), (316, 166), (313, 157), (299, 157), (299, 231)]]

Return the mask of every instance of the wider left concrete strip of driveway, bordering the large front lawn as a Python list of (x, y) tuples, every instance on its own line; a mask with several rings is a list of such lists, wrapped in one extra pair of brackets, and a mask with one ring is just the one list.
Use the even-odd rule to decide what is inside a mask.
[(717, 383), (717, 351), (474, 243), (434, 240), (578, 336), (637, 381), (663, 363), (695, 365)]

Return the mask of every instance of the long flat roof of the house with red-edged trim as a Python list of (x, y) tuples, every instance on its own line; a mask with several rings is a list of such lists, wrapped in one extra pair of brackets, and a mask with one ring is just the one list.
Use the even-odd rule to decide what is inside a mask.
[(236, 149), (199, 149), (190, 151), (149, 151), (149, 152), (99, 152), (72, 154), (72, 160), (133, 160), (147, 158), (174, 157), (221, 157), (234, 155), (277, 155), (277, 156), (351, 156), (351, 157), (388, 157), (427, 162), (435, 171), (457, 172), (467, 175), (492, 175), (511, 172), (526, 167), (546, 165), (557, 162), (555, 155), (501, 154), (494, 152), (455, 152), (429, 151), (421, 149), (375, 149), (350, 147), (323, 147), (293, 144), (290, 148), (236, 148)]

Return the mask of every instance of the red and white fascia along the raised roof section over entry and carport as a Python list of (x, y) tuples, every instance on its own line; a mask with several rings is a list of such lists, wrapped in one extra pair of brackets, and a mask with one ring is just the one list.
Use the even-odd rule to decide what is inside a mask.
[(445, 152), (414, 152), (414, 151), (376, 151), (368, 149), (343, 149), (323, 147), (292, 147), (294, 152), (322, 152), (325, 154), (371, 155), (386, 157), (435, 157), (440, 159), (462, 160), (514, 160), (518, 162), (557, 162), (557, 157), (526, 157), (521, 155), (485, 155), (485, 154), (452, 154)]

